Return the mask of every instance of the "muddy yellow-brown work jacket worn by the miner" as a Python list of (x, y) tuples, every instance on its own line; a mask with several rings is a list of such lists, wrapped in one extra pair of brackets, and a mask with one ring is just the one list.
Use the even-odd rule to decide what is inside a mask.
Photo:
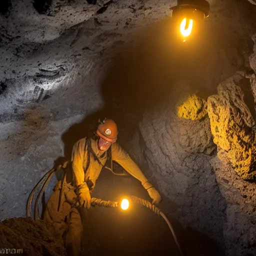
[[(83, 182), (92, 182), (90, 190), (95, 186), (96, 179), (98, 178), (102, 167), (107, 161), (107, 154), (101, 152), (98, 149), (97, 140), (90, 138), (91, 149), (94, 154), (97, 156), (97, 159), (94, 159), (93, 155), (90, 153), (89, 156), (89, 165), (87, 165), (88, 159), (88, 144), (86, 143), (86, 137), (78, 140), (72, 149), (72, 179), (73, 185), (79, 185)], [(86, 144), (86, 145), (85, 145)], [(120, 164), (129, 174), (138, 179), (141, 183), (147, 181), (147, 178), (144, 176), (137, 164), (130, 158), (127, 152), (125, 152), (117, 142), (114, 142), (111, 145), (111, 158), (112, 161)], [(86, 169), (87, 167), (87, 169)]]

